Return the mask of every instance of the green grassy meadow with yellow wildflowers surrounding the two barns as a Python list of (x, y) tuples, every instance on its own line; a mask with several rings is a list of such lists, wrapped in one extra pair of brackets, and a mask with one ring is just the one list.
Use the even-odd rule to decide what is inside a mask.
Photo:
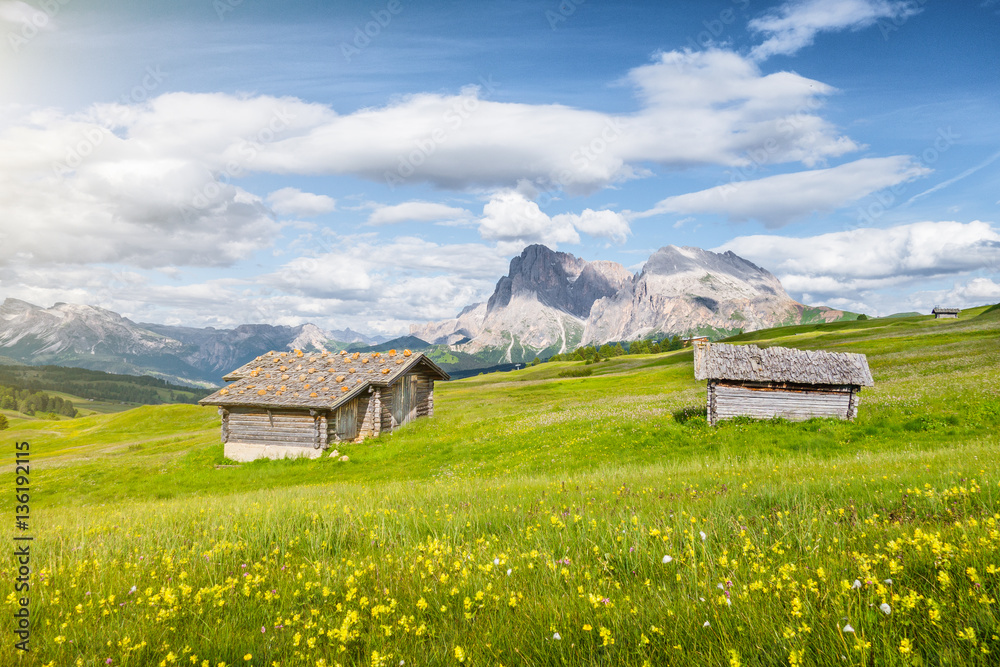
[(1000, 308), (730, 340), (876, 386), (853, 423), (712, 428), (690, 350), (545, 363), (348, 462), (230, 465), (214, 408), (11, 418), (32, 651), (11, 593), (0, 663), (997, 664)]

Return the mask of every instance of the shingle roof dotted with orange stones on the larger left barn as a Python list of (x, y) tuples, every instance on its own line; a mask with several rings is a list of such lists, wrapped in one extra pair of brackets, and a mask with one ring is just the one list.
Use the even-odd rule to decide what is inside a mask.
[(231, 384), (198, 402), (331, 410), (370, 386), (392, 384), (417, 365), (437, 379), (449, 379), (433, 361), (409, 350), (367, 355), (271, 351), (228, 373), (223, 379)]

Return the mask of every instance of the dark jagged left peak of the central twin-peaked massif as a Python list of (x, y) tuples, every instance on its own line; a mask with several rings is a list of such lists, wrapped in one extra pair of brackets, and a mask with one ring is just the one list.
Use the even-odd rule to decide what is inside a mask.
[(493, 362), (565, 352), (579, 344), (594, 302), (614, 296), (629, 280), (615, 262), (588, 262), (532, 245), (511, 260), (486, 304), (469, 306), (454, 320), (412, 326), (410, 333), (469, 354), (492, 350)]

